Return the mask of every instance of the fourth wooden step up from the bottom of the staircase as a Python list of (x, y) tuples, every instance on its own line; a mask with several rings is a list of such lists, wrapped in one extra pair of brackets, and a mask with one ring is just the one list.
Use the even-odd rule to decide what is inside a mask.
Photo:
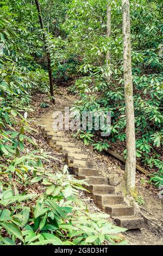
[[(115, 193), (115, 187), (110, 185), (83, 185), (83, 187), (86, 188), (90, 192), (91, 197), (93, 197), (95, 194), (114, 194)], [(91, 195), (93, 194), (93, 195)]]

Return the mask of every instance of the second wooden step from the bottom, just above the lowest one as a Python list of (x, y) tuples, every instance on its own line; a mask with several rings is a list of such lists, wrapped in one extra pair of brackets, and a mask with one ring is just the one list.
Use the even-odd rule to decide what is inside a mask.
[(134, 215), (134, 207), (124, 204), (104, 205), (106, 214), (110, 216), (131, 216)]

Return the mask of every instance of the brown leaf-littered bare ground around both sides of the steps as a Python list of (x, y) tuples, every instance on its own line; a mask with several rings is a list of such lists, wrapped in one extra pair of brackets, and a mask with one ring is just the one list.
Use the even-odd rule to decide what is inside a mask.
[[(29, 117), (39, 119), (44, 113), (52, 110), (55, 111), (55, 109), (64, 106), (67, 102), (65, 102), (65, 99), (62, 99), (61, 95), (66, 95), (67, 90), (61, 87), (56, 93), (58, 97), (55, 105), (52, 105), (52, 103), (49, 102), (46, 94), (38, 93), (33, 95), (32, 106), (35, 108), (35, 111), (30, 113)], [(76, 98), (72, 97), (72, 99), (75, 100)], [(48, 106), (43, 108), (40, 106), (41, 103), (47, 103)], [(65, 164), (64, 156), (48, 146), (46, 140), (42, 136), (39, 126), (37, 126), (37, 130), (38, 132), (33, 135), (33, 137), (42, 149), (56, 157), (57, 160), (51, 164), (53, 164), (53, 169), (57, 172), (57, 170), (62, 169)], [(83, 153), (87, 153), (90, 156), (90, 160), (101, 170), (102, 176), (107, 177), (110, 174), (114, 176), (114, 185), (116, 186), (117, 193), (120, 194), (120, 184), (123, 178), (124, 164), (114, 159), (112, 156), (98, 153), (93, 150), (92, 146), (85, 146), (80, 139), (72, 138), (71, 132), (65, 132), (65, 136), (70, 138), (70, 141), (75, 143), (78, 148), (83, 149)], [(130, 245), (163, 245), (163, 200), (158, 197), (159, 191), (149, 183), (146, 175), (140, 174), (139, 172), (136, 173), (136, 190), (139, 194), (140, 201), (142, 202), (143, 199), (144, 202), (135, 210), (137, 215), (144, 217), (145, 227), (140, 230), (126, 231), (123, 234), (126, 236)], [(101, 211), (93, 203), (93, 200), (91, 198), (86, 198), (82, 192), (80, 193), (80, 197), (87, 205), (88, 210), (91, 212)]]

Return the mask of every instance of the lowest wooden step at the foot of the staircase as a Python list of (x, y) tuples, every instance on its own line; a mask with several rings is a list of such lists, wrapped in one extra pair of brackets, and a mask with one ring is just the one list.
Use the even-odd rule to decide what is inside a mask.
[(144, 220), (139, 216), (116, 216), (114, 223), (122, 228), (137, 229), (143, 228)]

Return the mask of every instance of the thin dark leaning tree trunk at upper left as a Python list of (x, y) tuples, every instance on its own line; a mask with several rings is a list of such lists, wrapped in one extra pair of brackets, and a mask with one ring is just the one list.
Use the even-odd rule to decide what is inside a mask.
[[(41, 29), (43, 31), (43, 41), (45, 41), (45, 46), (46, 46), (46, 34), (45, 34), (45, 29), (43, 26), (43, 19), (42, 19), (42, 15), (41, 15), (41, 8), (40, 8), (40, 3), (38, 0), (35, 0), (35, 4), (37, 7), (37, 11), (39, 14), (39, 21), (40, 21), (40, 26)], [(55, 103), (55, 99), (54, 99), (54, 89), (53, 89), (53, 78), (52, 78), (52, 68), (51, 68), (51, 56), (50, 53), (48, 51), (48, 47), (46, 46), (46, 56), (47, 56), (47, 68), (48, 68), (48, 74), (49, 74), (49, 84), (50, 84), (50, 93), (52, 96), (52, 102)]]

